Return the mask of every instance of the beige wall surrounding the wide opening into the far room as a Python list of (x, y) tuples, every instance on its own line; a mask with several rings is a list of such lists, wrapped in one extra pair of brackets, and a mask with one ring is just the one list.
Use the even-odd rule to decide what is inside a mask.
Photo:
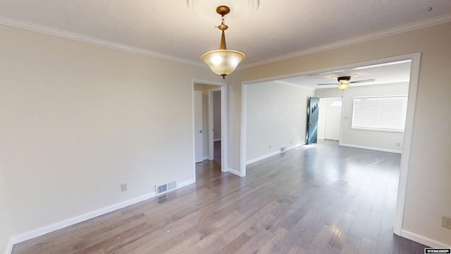
[[(451, 23), (435, 25), (245, 69), (237, 75), (249, 81), (421, 52), (402, 229), (406, 236), (451, 246), (451, 231), (440, 226), (442, 215), (451, 216), (450, 31)], [(233, 83), (230, 90), (235, 91), (230, 92), (230, 103), (240, 104), (240, 82)], [(240, 116), (239, 107), (230, 110), (233, 116)], [(237, 123), (230, 127), (230, 133), (240, 130)], [(239, 167), (237, 158), (230, 158), (230, 167)]]

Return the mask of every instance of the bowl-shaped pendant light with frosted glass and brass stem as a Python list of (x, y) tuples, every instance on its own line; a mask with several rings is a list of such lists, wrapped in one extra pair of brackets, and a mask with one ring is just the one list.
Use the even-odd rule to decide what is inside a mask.
[(218, 26), (218, 29), (222, 31), (221, 35), (221, 46), (218, 50), (214, 50), (211, 52), (206, 52), (200, 59), (206, 63), (214, 73), (223, 76), (223, 79), (226, 78), (226, 75), (233, 73), (235, 68), (237, 68), (238, 64), (245, 59), (245, 54), (236, 50), (230, 50), (226, 47), (226, 34), (224, 30), (228, 28), (228, 26), (224, 23), (224, 16), (230, 13), (230, 8), (228, 6), (218, 6), (216, 8), (216, 13), (221, 15), (221, 25)]

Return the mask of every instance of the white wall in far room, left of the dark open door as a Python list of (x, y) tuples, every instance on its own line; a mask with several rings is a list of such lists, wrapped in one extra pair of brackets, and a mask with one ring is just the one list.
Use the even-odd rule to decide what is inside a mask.
[(314, 90), (280, 83), (247, 85), (247, 162), (305, 143), (307, 102)]

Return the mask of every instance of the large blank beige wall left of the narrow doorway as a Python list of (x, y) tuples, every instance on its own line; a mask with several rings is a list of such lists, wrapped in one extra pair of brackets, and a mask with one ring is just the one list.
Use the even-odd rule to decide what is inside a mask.
[(0, 35), (0, 236), (194, 183), (192, 80), (220, 77), (5, 25)]

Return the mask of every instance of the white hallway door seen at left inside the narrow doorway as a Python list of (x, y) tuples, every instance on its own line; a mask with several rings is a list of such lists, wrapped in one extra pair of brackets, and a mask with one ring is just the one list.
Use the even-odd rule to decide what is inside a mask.
[(204, 160), (204, 133), (202, 131), (202, 91), (194, 90), (194, 149), (195, 162)]

